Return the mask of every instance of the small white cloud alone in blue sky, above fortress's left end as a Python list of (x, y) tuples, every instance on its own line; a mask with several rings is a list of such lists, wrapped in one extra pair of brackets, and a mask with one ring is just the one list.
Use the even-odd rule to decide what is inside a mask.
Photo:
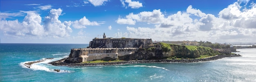
[(96, 21), (92, 21), (90, 22), (90, 20), (88, 20), (85, 16), (83, 18), (81, 18), (80, 20), (75, 20), (74, 22), (72, 22), (72, 26), (76, 29), (82, 29), (82, 28), (86, 28), (85, 26), (99, 26), (100, 24)]

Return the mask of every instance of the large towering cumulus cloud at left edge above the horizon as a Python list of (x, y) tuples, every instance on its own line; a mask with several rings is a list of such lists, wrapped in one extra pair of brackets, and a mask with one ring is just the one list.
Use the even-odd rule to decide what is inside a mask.
[(70, 28), (71, 21), (61, 22), (58, 20), (61, 12), (61, 9), (52, 9), (44, 18), (45, 21), (42, 24), (42, 18), (38, 13), (28, 11), (22, 22), (18, 22), (18, 20), (0, 20), (0, 29), (5, 35), (50, 36), (54, 38), (69, 36), (69, 33), (72, 32)]

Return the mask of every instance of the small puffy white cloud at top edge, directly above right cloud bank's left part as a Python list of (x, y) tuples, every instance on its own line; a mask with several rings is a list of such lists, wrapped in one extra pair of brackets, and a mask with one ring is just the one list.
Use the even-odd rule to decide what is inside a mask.
[[(125, 6), (124, 1), (122, 1), (123, 6)], [(132, 0), (125, 0), (126, 3), (128, 3), (128, 7), (131, 7), (132, 9), (138, 9), (139, 7), (142, 7), (142, 3), (139, 1), (132, 1)]]

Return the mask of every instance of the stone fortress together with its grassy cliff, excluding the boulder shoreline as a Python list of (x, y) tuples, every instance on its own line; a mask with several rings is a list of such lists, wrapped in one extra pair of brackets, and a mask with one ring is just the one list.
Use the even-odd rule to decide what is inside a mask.
[(202, 46), (153, 43), (151, 39), (94, 38), (87, 48), (71, 49), (64, 62), (79, 63), (94, 60), (150, 60), (167, 57), (199, 58), (213, 55), (213, 49)]

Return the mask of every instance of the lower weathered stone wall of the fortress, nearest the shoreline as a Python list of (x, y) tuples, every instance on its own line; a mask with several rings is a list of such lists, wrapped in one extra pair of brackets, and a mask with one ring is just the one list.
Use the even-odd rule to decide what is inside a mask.
[(83, 60), (79, 58), (81, 57), (81, 55), (86, 55), (86, 56), (83, 56), (83, 57), (86, 57), (85, 61), (101, 60), (104, 58), (115, 59), (115, 58), (118, 58), (118, 56), (133, 54), (137, 50), (138, 48), (71, 49), (69, 58), (67, 58), (66, 62), (81, 62), (81, 60)]

